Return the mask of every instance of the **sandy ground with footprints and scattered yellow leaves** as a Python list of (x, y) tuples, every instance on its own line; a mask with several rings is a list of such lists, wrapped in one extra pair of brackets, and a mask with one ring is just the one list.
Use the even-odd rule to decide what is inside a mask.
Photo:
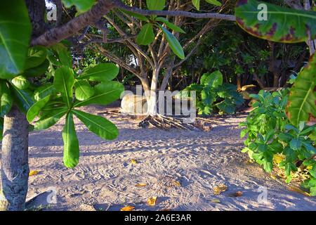
[[(127, 204), (136, 210), (316, 210), (316, 198), (287, 191), (240, 153), (242, 116), (218, 120), (209, 133), (140, 129), (136, 121), (117, 118), (110, 117), (120, 130), (115, 141), (99, 139), (75, 120), (81, 158), (74, 169), (62, 165), (62, 124), (32, 132), (29, 165), (41, 173), (30, 177), (29, 196), (54, 187), (57, 204), (51, 210), (80, 210), (82, 204), (97, 210), (119, 210)], [(147, 186), (136, 187), (138, 183)], [(219, 184), (228, 191), (213, 195)], [(267, 188), (268, 202), (257, 200), (261, 186)], [(236, 191), (243, 195), (231, 197)], [(157, 205), (149, 207), (145, 202), (152, 196), (158, 196)]]

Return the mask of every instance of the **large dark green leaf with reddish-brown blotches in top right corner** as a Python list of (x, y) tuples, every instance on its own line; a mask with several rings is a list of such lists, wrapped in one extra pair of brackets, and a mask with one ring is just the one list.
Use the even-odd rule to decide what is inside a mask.
[[(266, 12), (263, 11), (265, 6)], [(255, 0), (239, 0), (235, 15), (238, 25), (246, 32), (270, 41), (305, 41), (308, 39), (308, 30), (311, 37), (316, 38), (316, 13), (312, 11), (283, 8)]]

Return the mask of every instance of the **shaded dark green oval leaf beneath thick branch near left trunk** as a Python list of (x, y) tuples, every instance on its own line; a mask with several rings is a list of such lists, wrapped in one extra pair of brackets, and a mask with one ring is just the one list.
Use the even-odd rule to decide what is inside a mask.
[(34, 46), (29, 49), (29, 56), (27, 56), (25, 63), (25, 70), (29, 68), (36, 68), (44, 63), (47, 56), (47, 49), (43, 46)]

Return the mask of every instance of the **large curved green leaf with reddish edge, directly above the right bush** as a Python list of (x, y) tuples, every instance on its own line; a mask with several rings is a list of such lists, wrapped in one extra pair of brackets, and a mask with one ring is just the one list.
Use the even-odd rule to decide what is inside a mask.
[(287, 117), (298, 126), (301, 121), (315, 122), (316, 118), (316, 54), (307, 67), (299, 73), (289, 94)]

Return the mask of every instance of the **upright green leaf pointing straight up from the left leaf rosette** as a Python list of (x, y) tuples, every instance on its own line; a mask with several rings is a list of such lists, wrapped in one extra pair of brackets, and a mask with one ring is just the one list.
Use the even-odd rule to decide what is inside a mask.
[(74, 71), (62, 66), (55, 70), (54, 87), (62, 94), (68, 108), (72, 107), (72, 88), (74, 86)]

